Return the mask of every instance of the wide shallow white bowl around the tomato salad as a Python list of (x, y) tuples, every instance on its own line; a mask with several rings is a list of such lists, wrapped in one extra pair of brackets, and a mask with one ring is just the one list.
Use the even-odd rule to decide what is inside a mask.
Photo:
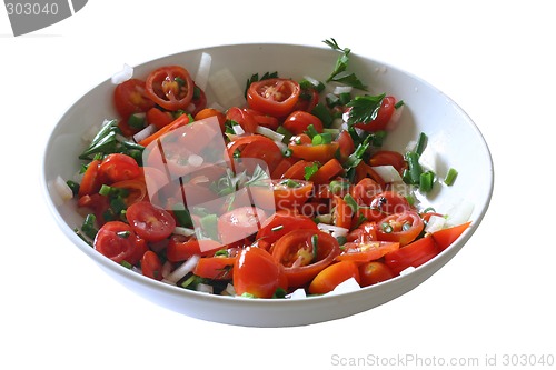
[[(278, 71), (296, 80), (304, 76), (325, 80), (339, 56), (327, 47), (290, 44), (239, 44), (192, 50), (157, 59), (135, 68), (135, 77), (146, 77), (156, 67), (181, 64), (195, 73), (202, 52), (212, 58), (211, 70), (228, 68), (240, 83), (252, 73)], [(468, 228), (439, 256), (411, 272), (358, 291), (305, 299), (265, 300), (211, 296), (185, 290), (136, 273), (112, 262), (85, 243), (73, 229), (82, 223), (72, 201), (58, 206), (48, 183), (58, 176), (71, 179), (79, 168), (78, 154), (85, 144), (81, 136), (106, 118), (116, 117), (111, 106), (110, 79), (81, 97), (56, 126), (44, 152), (43, 186), (50, 209), (61, 230), (92, 261), (115, 280), (160, 306), (190, 317), (239, 326), (302, 326), (348, 317), (393, 300), (433, 276), (468, 241), (487, 211), (493, 192), (493, 163), (488, 147), (471, 119), (447, 96), (427, 82), (391, 66), (350, 54), (349, 69), (369, 84), (369, 93), (387, 92), (405, 101), (405, 110), (386, 148), (404, 151), (419, 132), (428, 136), (428, 147), (439, 173), (449, 167), (458, 170), (451, 187), (437, 186), (429, 203), (439, 211), (465, 200), (473, 204)], [(208, 88), (207, 94), (212, 96)]]

